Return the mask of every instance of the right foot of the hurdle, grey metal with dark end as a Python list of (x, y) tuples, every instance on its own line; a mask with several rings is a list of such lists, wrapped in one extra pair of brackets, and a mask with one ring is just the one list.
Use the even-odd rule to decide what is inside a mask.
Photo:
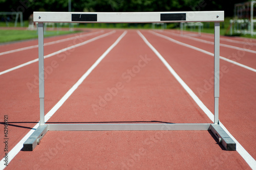
[(219, 143), (221, 143), (227, 151), (236, 151), (236, 142), (233, 141), (219, 124), (211, 124), (210, 131), (217, 137)]

